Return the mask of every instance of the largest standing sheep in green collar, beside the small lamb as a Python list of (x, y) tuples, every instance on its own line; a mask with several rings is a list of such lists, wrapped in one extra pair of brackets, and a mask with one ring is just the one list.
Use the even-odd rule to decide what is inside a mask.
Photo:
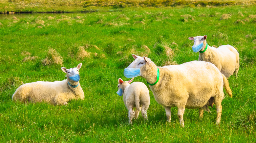
[[(171, 107), (178, 107), (180, 125), (184, 126), (185, 108), (199, 108), (199, 117), (202, 118), (203, 110), (209, 105), (210, 99), (214, 99), (217, 109), (216, 124), (220, 123), (223, 86), (230, 97), (232, 92), (227, 78), (216, 66), (205, 61), (191, 61), (181, 65), (157, 67), (145, 56), (132, 56), (135, 60), (124, 69), (124, 76), (141, 76), (147, 80), (155, 100), (164, 107), (168, 122), (171, 121)], [(137, 74), (138, 71), (140, 74)]]

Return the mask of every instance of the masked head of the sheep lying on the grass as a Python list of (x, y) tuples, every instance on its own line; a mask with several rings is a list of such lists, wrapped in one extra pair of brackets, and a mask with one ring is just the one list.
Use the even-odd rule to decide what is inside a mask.
[(67, 76), (68, 81), (78, 82), (80, 79), (79, 70), (80, 70), (81, 66), (82, 66), (82, 63), (78, 64), (77, 67), (75, 67), (75, 68), (66, 69), (66, 68), (62, 67), (61, 70), (67, 74), (66, 76)]

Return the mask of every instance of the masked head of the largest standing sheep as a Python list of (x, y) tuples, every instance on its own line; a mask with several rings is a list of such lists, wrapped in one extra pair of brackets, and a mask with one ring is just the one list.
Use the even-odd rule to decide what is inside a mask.
[(124, 76), (127, 78), (132, 78), (136, 76), (141, 76), (145, 78), (146, 72), (149, 71), (151, 66), (156, 66), (150, 58), (147, 58), (145, 56), (140, 57), (136, 55), (132, 55), (135, 59), (127, 68), (124, 69)]

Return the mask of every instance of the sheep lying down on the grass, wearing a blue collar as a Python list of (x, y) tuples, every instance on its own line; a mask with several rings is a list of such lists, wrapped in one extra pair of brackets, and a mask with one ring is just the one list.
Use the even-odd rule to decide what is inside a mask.
[(63, 81), (37, 81), (21, 85), (12, 95), (12, 101), (46, 102), (54, 105), (67, 105), (67, 102), (72, 99), (83, 100), (84, 92), (79, 84), (79, 69), (81, 66), (82, 63), (71, 69), (62, 67), (61, 70), (66, 73), (67, 77)]

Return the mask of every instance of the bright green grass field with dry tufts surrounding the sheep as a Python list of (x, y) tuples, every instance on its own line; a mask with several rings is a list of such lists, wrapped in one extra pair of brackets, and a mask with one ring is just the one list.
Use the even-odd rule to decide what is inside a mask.
[[(255, 27), (254, 5), (8, 15), (0, 19), (0, 141), (256, 142)], [(148, 56), (158, 66), (198, 60), (188, 37), (199, 35), (207, 35), (210, 46), (230, 44), (240, 53), (238, 77), (228, 78), (233, 98), (225, 94), (220, 125), (215, 106), (202, 120), (198, 109), (186, 109), (183, 128), (173, 107), (167, 124), (151, 90), (149, 121), (140, 115), (129, 125), (116, 92), (118, 78), (128, 80), (123, 69), (133, 61), (131, 54)], [(67, 106), (11, 101), (20, 85), (64, 80), (61, 67), (80, 62), (83, 101)], [(141, 77), (134, 81), (146, 84)]]

